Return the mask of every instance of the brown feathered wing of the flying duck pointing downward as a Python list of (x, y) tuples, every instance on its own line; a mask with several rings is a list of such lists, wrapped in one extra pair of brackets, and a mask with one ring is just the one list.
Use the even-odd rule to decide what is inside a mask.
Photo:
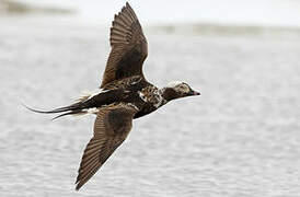
[(94, 124), (94, 137), (84, 150), (78, 171), (77, 190), (96, 173), (126, 139), (136, 112), (134, 106), (122, 103), (100, 108)]

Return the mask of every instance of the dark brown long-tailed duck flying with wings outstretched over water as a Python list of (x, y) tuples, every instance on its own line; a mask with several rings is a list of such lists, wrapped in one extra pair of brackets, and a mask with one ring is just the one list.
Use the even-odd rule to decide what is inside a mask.
[(200, 95), (187, 83), (173, 81), (159, 89), (143, 76), (148, 43), (139, 20), (128, 2), (115, 14), (111, 27), (111, 54), (100, 89), (71, 105), (35, 113), (66, 115), (95, 114), (93, 137), (83, 152), (76, 190), (79, 190), (127, 138), (132, 120), (148, 115), (170, 101)]

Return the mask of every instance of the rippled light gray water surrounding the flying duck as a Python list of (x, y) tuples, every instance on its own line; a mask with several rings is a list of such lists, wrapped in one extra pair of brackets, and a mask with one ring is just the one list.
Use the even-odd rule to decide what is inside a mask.
[(147, 79), (201, 96), (134, 121), (80, 192), (94, 116), (34, 114), (95, 90), (108, 27), (0, 22), (0, 196), (300, 196), (300, 36), (147, 31)]

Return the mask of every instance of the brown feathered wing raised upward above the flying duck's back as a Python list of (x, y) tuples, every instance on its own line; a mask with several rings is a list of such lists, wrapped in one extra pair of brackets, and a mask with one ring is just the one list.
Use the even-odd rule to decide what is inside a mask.
[(105, 84), (128, 78), (142, 76), (142, 63), (148, 55), (147, 39), (132, 8), (127, 2), (115, 15), (111, 28), (109, 54), (101, 88)]

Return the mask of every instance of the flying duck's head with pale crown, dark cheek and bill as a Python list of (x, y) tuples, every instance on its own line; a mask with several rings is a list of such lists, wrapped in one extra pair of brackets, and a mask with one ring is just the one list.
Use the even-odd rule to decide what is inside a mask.
[(200, 93), (194, 91), (187, 83), (182, 81), (170, 82), (163, 89), (163, 97), (166, 101), (175, 100), (178, 97), (193, 96), (193, 95), (200, 95)]

